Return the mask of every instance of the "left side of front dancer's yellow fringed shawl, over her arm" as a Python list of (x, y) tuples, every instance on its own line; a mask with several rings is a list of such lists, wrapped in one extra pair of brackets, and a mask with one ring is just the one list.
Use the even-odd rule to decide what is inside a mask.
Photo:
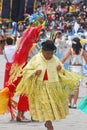
[[(28, 94), (31, 91), (30, 89), (32, 88), (32, 82), (35, 80), (35, 72), (38, 66), (37, 63), (37, 55), (34, 56), (28, 64), (24, 67), (23, 72), (22, 72), (22, 79), (19, 82), (18, 86), (16, 87), (16, 93), (15, 96), (22, 94)], [(33, 81), (32, 81), (33, 80)], [(27, 87), (28, 86), (28, 87)]]

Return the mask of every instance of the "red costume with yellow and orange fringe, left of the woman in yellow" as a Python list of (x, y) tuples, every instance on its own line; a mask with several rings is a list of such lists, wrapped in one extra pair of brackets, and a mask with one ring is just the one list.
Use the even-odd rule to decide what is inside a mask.
[[(14, 95), (15, 88), (21, 80), (22, 69), (26, 65), (27, 57), (28, 57), (30, 50), (33, 47), (33, 44), (37, 42), (41, 29), (42, 29), (42, 25), (40, 25), (38, 27), (27, 28), (20, 40), (18, 49), (14, 54), (13, 63), (12, 63), (11, 69), (10, 69), (10, 77), (9, 77), (8, 84), (7, 84), (7, 86), (5, 86), (4, 91), (3, 90), (0, 91), (0, 96), (2, 97), (2, 99), (4, 101), (6, 99), (8, 99), (8, 100), (6, 100), (6, 103), (9, 105), (10, 109), (12, 108), (11, 107), (11, 103), (12, 103), (11, 97)], [(7, 95), (9, 95), (9, 96), (7, 96)], [(2, 105), (0, 105), (0, 114), (6, 112), (6, 107), (7, 107), (6, 103), (5, 103), (5, 105), (4, 105), (5, 107), (4, 107), (2, 104), (2, 101), (0, 102), (0, 104), (2, 104)], [(28, 105), (27, 97), (25, 95), (21, 95), (19, 102), (18, 102), (18, 110), (25, 112), (29, 109), (28, 106), (29, 105)], [(4, 107), (4, 109), (3, 109), (3, 107)]]

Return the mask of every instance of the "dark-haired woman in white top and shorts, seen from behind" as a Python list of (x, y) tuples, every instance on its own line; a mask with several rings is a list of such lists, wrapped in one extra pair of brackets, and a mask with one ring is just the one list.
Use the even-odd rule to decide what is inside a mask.
[[(70, 57), (71, 56), (71, 57)], [(66, 55), (61, 60), (64, 63), (70, 57), (70, 71), (83, 73), (83, 62), (87, 63), (87, 54), (82, 49), (82, 45), (80, 43), (80, 39), (78, 37), (73, 38), (72, 47), (68, 50)], [(77, 99), (79, 96), (79, 83), (77, 89), (74, 91), (74, 101), (72, 103), (73, 93), (69, 96), (69, 107), (77, 108)]]

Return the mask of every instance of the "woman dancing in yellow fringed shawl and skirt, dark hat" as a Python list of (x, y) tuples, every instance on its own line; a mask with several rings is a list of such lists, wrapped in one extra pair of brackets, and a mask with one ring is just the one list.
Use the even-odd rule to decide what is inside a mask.
[(47, 130), (53, 130), (52, 121), (66, 118), (68, 114), (67, 85), (73, 90), (81, 79), (76, 73), (63, 68), (53, 54), (56, 50), (51, 40), (42, 43), (41, 51), (24, 67), (22, 79), (15, 95), (26, 94), (29, 98), (33, 120), (45, 121)]

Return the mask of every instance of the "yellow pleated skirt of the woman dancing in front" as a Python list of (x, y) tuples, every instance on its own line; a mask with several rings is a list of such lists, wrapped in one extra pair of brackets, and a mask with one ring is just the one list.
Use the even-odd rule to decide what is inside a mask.
[(60, 120), (68, 114), (68, 95), (61, 89), (59, 82), (33, 81), (30, 90), (23, 88), (22, 90), (26, 90), (30, 115), (34, 120)]

